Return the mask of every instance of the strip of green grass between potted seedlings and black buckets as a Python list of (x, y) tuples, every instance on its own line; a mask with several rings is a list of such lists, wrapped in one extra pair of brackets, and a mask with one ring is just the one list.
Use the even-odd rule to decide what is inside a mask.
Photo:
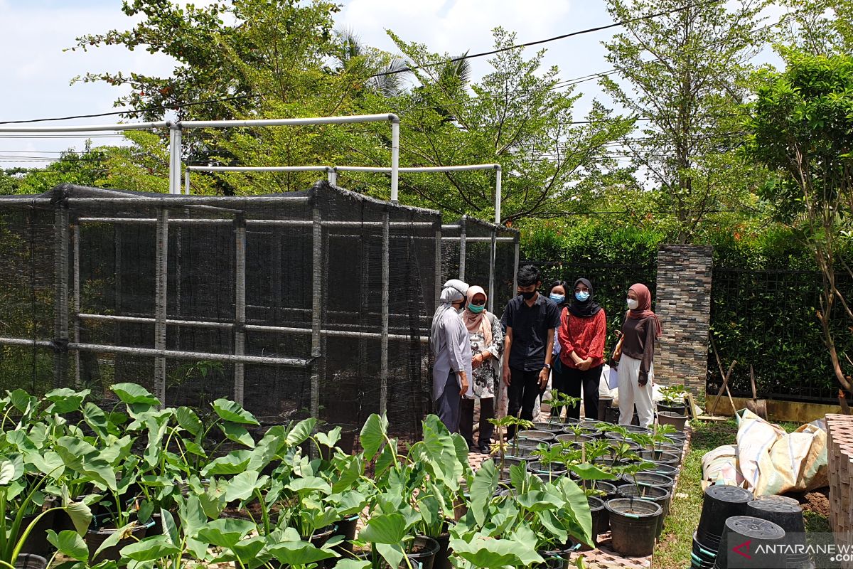
[[(790, 433), (799, 425), (782, 423), (780, 427)], [(728, 421), (693, 423), (690, 450), (684, 459), (664, 532), (654, 551), (652, 566), (656, 569), (686, 569), (690, 566), (693, 531), (696, 531), (699, 515), (702, 514), (702, 456), (721, 444), (734, 444), (737, 430), (734, 418)], [(815, 512), (805, 512), (805, 525), (806, 531), (830, 531), (826, 516)]]

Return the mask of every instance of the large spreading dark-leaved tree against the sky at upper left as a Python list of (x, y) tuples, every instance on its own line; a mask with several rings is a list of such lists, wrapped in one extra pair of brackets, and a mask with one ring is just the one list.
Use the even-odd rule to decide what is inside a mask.
[[(257, 111), (266, 97), (293, 102), (305, 95), (333, 55), (338, 7), (322, 0), (227, 0), (206, 7), (125, 0), (122, 11), (142, 20), (130, 30), (81, 36), (70, 49), (120, 45), (169, 55), (177, 62), (171, 77), (103, 72), (77, 80), (130, 87), (115, 102), (131, 108), (128, 118), (160, 120), (165, 107), (178, 119), (234, 119)], [(268, 91), (256, 89), (259, 70), (275, 75)]]

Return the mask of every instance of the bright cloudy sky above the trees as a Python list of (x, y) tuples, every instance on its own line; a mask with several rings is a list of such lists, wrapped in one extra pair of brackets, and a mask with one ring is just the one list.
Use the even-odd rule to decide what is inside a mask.
[[(185, 2), (182, 2), (185, 3)], [(197, 5), (204, 0), (196, 0)], [(395, 51), (386, 34), (391, 29), (405, 41), (427, 44), (433, 51), (460, 55), (492, 47), (491, 30), (503, 26), (526, 43), (612, 23), (601, 0), (350, 0), (343, 3), (336, 27), (357, 33), (364, 44)], [(0, 122), (77, 114), (108, 113), (125, 93), (107, 84), (71, 84), (89, 72), (123, 70), (168, 75), (174, 61), (144, 49), (107, 47), (70, 51), (85, 33), (127, 29), (131, 20), (120, 0), (0, 0)], [(619, 28), (565, 38), (545, 44), (543, 67), (556, 65), (560, 78), (579, 78), (609, 70), (602, 42)], [(526, 55), (532, 55), (530, 48)], [(475, 78), (488, 73), (487, 58), (471, 60)], [(595, 81), (578, 85), (580, 118), (600, 98)], [(53, 125), (102, 125), (118, 117), (77, 119)], [(44, 125), (45, 123), (43, 123)], [(55, 159), (66, 148), (83, 148), (86, 136), (22, 137), (0, 133), (0, 168), (36, 167)], [(93, 143), (118, 143), (119, 138), (93, 138)]]

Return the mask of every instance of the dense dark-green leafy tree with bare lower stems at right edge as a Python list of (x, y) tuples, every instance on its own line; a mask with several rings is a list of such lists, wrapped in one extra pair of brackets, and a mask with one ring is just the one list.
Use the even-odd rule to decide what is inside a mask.
[[(838, 354), (835, 341), (837, 334), (849, 331), (833, 329), (833, 311), (839, 306), (853, 324), (853, 311), (836, 282), (837, 270), (853, 278), (839, 254), (853, 235), (853, 58), (794, 50), (782, 55), (784, 73), (755, 75), (759, 87), (746, 121), (746, 149), (777, 173), (777, 183), (767, 187), (766, 195), (814, 255), (822, 285), (817, 318), (838, 384), (850, 391), (853, 361)], [(849, 412), (841, 390), (838, 399)]]

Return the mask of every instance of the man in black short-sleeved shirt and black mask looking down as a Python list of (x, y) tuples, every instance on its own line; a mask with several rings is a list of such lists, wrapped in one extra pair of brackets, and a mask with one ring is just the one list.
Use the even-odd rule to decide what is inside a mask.
[[(542, 286), (539, 270), (525, 264), (518, 273), (519, 296), (510, 300), (501, 322), (507, 328), (503, 353), (503, 381), (509, 394), (508, 415), (533, 419), (536, 398), (551, 373), (554, 329), (560, 326), (560, 311), (537, 289)], [(507, 438), (515, 428), (507, 429)]]

